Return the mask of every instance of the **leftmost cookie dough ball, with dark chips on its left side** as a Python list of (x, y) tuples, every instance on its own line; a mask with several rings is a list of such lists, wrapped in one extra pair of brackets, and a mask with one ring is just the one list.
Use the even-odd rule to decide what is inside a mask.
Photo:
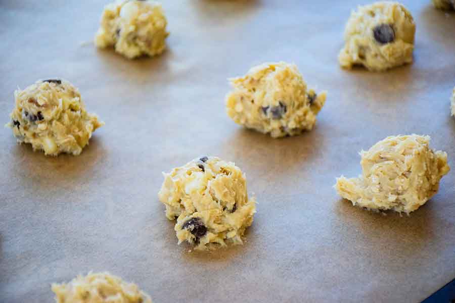
[(14, 92), (16, 107), (11, 122), (19, 143), (31, 143), (45, 155), (79, 155), (92, 133), (104, 125), (98, 116), (85, 111), (79, 91), (65, 80), (37, 81)]

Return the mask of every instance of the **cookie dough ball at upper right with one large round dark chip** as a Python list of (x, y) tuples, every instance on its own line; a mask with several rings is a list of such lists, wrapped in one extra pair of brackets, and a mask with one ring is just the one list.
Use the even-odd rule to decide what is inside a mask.
[(363, 65), (383, 71), (413, 62), (416, 25), (411, 13), (397, 2), (376, 2), (351, 13), (344, 32), (340, 65)]

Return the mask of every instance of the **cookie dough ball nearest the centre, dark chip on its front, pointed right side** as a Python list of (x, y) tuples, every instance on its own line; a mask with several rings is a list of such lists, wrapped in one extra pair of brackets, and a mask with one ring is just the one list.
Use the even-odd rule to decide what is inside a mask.
[(311, 130), (327, 92), (307, 89), (297, 66), (285, 62), (253, 67), (244, 77), (230, 79), (226, 112), (236, 123), (274, 138)]

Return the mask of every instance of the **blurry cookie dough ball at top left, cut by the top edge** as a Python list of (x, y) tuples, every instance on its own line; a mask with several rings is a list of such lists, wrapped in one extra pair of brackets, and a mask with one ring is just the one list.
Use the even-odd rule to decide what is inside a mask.
[(95, 37), (100, 48), (114, 46), (117, 53), (133, 59), (161, 54), (166, 47), (166, 17), (153, 1), (117, 1), (104, 8)]

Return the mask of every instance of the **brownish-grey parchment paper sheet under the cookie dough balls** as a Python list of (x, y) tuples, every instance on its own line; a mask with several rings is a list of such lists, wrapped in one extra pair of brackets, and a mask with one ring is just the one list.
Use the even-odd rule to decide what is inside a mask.
[[(0, 1), (0, 110), (13, 91), (62, 77), (106, 122), (79, 157), (0, 135), (0, 301), (51, 302), (51, 282), (89, 270), (138, 283), (156, 302), (417, 302), (455, 278), (455, 14), (404, 0), (415, 63), (338, 67), (344, 24), (368, 1), (163, 1), (169, 49), (128, 61), (92, 40), (105, 1)], [(226, 78), (285, 60), (329, 91), (316, 128), (272, 139), (224, 112)], [(452, 171), (411, 216), (352, 207), (332, 188), (360, 149), (429, 134)], [(247, 174), (257, 214), (243, 246), (177, 246), (157, 198), (162, 171), (219, 156)]]

